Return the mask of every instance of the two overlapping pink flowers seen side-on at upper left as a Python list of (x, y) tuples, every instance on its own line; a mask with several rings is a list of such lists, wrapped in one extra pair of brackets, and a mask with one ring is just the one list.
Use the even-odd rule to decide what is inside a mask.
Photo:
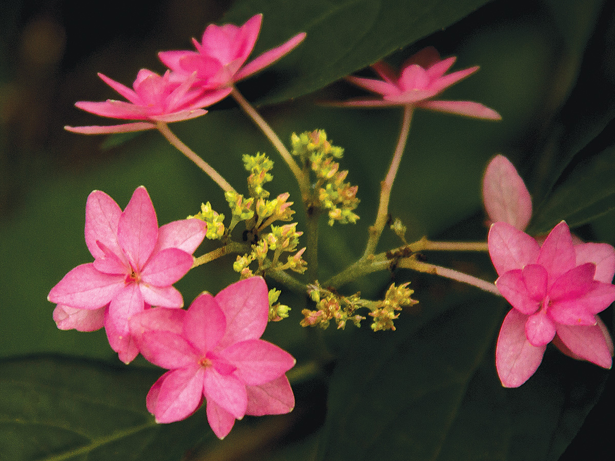
[(140, 120), (121, 125), (65, 127), (84, 134), (120, 133), (156, 128), (157, 122), (178, 122), (205, 114), (203, 108), (215, 104), (231, 93), (232, 85), (279, 60), (303, 41), (306, 34), (292, 37), (278, 47), (245, 63), (256, 44), (263, 15), (257, 14), (244, 25), (209, 25), (201, 42), (193, 39), (193, 51), (159, 53), (169, 67), (162, 77), (141, 69), (133, 90), (98, 74), (126, 101), (79, 101), (75, 105), (87, 112), (114, 119)]

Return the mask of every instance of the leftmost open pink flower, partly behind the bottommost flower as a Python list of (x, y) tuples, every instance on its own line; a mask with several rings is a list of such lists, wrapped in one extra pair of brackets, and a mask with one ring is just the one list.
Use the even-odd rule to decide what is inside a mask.
[(172, 285), (192, 267), (206, 232), (199, 219), (159, 229), (143, 186), (123, 212), (105, 192), (93, 191), (85, 205), (85, 243), (94, 262), (75, 267), (49, 292), (47, 299), (58, 304), (58, 328), (93, 331), (104, 325), (109, 344), (129, 363), (138, 353), (130, 317), (149, 305), (183, 306)]

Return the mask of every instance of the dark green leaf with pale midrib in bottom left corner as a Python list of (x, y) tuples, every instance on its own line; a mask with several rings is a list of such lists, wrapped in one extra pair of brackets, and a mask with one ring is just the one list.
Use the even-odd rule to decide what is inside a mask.
[(2, 460), (177, 461), (208, 433), (204, 412), (154, 422), (145, 396), (160, 371), (59, 357), (0, 366)]

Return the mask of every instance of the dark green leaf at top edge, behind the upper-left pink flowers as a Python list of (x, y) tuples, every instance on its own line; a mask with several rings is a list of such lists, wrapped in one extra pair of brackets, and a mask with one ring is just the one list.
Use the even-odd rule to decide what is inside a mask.
[[(371, 65), (395, 50), (440, 31), (486, 0), (240, 0), (224, 21), (243, 23), (263, 13), (254, 55), (299, 32), (306, 40), (261, 79), (269, 92), (259, 103), (306, 95)], [(283, 74), (283, 75), (282, 75)], [(260, 93), (263, 88), (260, 88)]]

